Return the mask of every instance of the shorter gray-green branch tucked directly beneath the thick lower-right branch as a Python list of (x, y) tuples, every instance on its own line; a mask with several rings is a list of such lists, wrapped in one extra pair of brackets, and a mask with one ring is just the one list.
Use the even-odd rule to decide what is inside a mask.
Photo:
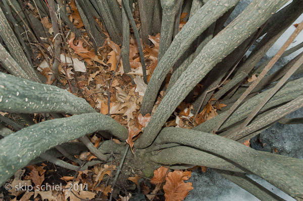
[(147, 155), (147, 157), (149, 157), (151, 161), (162, 165), (200, 165), (221, 170), (249, 173), (249, 171), (235, 164), (232, 164), (223, 158), (185, 146), (163, 149), (161, 152), (156, 151), (153, 152), (150, 156)]

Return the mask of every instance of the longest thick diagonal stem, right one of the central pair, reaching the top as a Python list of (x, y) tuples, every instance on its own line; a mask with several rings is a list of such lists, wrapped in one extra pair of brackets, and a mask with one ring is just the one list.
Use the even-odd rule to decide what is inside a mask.
[[(145, 127), (143, 135), (135, 142), (135, 146), (137, 148), (149, 146), (157, 137), (165, 121), (194, 86), (200, 82), (218, 62), (264, 24), (283, 4), (281, 1), (271, 1), (271, 3), (268, 3), (265, 0), (255, 0), (232, 23), (214, 37), (203, 50), (201, 50), (180, 76), (170, 92), (163, 98), (155, 114)], [(259, 6), (259, 10), (255, 8), (257, 5)], [(194, 17), (192, 17), (192, 19), (193, 18)], [(147, 91), (145, 94), (146, 93)]]

